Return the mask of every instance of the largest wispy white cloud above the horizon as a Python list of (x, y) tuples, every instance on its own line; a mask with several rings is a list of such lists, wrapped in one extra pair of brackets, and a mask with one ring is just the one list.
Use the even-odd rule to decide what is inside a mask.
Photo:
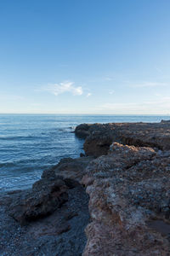
[(70, 92), (73, 96), (81, 96), (83, 94), (83, 90), (81, 86), (75, 86), (73, 82), (62, 82), (59, 84), (48, 84), (46, 88), (43, 90), (48, 90), (55, 96), (59, 94)]

